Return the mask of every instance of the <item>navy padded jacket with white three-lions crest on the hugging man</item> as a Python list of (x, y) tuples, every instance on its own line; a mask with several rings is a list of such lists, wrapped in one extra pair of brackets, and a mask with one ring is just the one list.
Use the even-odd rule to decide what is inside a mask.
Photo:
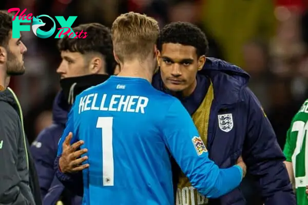
[[(207, 148), (210, 159), (220, 168), (227, 168), (235, 165), (237, 158), (242, 155), (265, 205), (296, 205), (283, 164), (285, 157), (258, 99), (247, 87), (249, 75), (239, 67), (215, 58), (206, 58), (204, 68), (198, 75), (209, 78), (214, 87), (208, 122)], [(183, 103), (190, 114), (196, 111), (200, 105), (198, 100), (204, 96), (198, 92), (204, 87), (198, 87), (198, 84), (192, 94), (194, 96), (190, 98), (191, 103)], [(153, 78), (153, 86), (164, 91), (159, 73)], [(219, 125), (218, 115), (221, 114), (232, 114), (232, 129)], [(55, 161), (55, 168), (58, 161), (59, 158)], [(74, 179), (78, 179), (76, 175), (65, 175), (59, 169), (56, 175), (64, 183), (71, 183), (70, 187)], [(74, 188), (78, 188), (76, 191), (79, 194), (82, 193), (81, 184), (75, 184)], [(238, 188), (219, 199), (211, 199), (209, 204), (242, 205), (246, 202)]]

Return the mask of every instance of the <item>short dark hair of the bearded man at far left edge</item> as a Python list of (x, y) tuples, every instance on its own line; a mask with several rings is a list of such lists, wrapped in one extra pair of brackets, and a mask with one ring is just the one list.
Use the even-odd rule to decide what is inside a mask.
[(10, 39), (10, 32), (13, 29), (13, 15), (8, 11), (0, 10), (0, 46), (7, 47)]

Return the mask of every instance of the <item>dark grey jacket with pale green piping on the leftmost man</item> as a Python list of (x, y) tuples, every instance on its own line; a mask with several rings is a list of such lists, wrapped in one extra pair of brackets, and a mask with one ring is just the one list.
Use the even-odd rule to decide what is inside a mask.
[(0, 204), (41, 205), (21, 106), (9, 88), (0, 92), (0, 116)]

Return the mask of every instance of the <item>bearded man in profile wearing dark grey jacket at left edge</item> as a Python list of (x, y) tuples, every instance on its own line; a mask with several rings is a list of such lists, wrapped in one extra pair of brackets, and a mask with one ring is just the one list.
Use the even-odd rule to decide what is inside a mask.
[(10, 77), (25, 72), (26, 46), (12, 37), (12, 17), (0, 11), (0, 204), (42, 204), (37, 174), (24, 132), (23, 113)]

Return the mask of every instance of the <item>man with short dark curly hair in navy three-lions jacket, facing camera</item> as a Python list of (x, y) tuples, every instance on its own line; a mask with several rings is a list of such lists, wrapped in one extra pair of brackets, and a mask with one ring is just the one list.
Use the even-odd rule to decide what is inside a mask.
[[(259, 100), (247, 87), (249, 75), (226, 61), (206, 57), (206, 37), (189, 23), (166, 25), (158, 50), (160, 72), (152, 84), (181, 100), (194, 119), (209, 157), (227, 168), (242, 155), (265, 205), (295, 205), (285, 157)], [(219, 199), (204, 198), (176, 167), (177, 204), (246, 203), (240, 188)]]

